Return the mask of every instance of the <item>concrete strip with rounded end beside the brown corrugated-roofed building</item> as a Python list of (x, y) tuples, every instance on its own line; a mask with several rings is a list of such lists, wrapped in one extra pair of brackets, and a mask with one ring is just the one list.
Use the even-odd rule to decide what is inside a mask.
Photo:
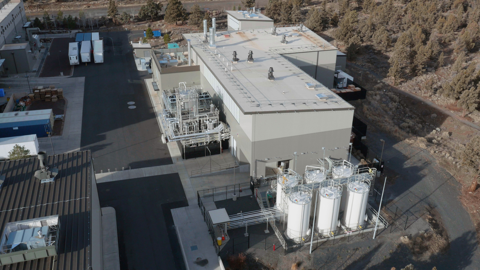
[(103, 269), (120, 270), (117, 218), (113, 207), (102, 208)]

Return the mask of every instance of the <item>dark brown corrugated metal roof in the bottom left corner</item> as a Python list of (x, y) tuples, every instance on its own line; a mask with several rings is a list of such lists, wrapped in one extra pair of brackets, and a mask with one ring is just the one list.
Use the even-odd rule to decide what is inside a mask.
[[(59, 255), (0, 267), (0, 270), (87, 270), (91, 266), (90, 151), (48, 156), (59, 169), (55, 182), (40, 184), (36, 158), (0, 162), (0, 228), (13, 221), (59, 215)], [(53, 264), (53, 265), (52, 265)]]

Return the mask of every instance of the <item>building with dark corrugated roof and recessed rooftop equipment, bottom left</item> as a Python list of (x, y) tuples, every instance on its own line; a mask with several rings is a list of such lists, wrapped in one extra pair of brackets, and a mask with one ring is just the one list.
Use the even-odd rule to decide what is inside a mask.
[[(34, 176), (40, 170), (36, 158), (0, 162), (0, 269), (101, 270), (102, 221), (90, 151), (45, 161), (59, 172), (54, 182), (43, 184)], [(10, 244), (12, 232), (36, 227), (48, 236), (46, 245)]]

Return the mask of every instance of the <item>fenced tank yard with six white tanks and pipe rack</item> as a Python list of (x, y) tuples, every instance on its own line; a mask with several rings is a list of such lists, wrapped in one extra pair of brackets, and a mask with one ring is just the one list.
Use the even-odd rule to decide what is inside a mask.
[(395, 217), (389, 213), (389, 220), (378, 213), (382, 190), (373, 189), (376, 169), (330, 158), (318, 163), (306, 166), (302, 174), (288, 169), (237, 184), (236, 200), (231, 199), (233, 186), (200, 192), (199, 207), (207, 223), (209, 207), (205, 205), (211, 203), (225, 208), (230, 218), (229, 223), (209, 225), (212, 240), (222, 237), (216, 232), (228, 235), (221, 246), (213, 241), (218, 254), (236, 254), (252, 246), (280, 248), (285, 254), (309, 252), (311, 245), (314, 250), (342, 240), (372, 237), (375, 226), (378, 232), (406, 227), (401, 223), (405, 222), (401, 210)]

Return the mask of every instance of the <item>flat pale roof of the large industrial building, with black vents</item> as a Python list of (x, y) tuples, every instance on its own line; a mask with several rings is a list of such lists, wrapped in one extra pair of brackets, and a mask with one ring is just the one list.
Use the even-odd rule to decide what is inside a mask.
[[(352, 105), (281, 56), (297, 51), (336, 50), (308, 28), (303, 30), (299, 32), (296, 26), (278, 27), (277, 36), (271, 35), (270, 28), (223, 32), (216, 37), (216, 48), (202, 42), (203, 33), (183, 36), (191, 40), (195, 52), (245, 114), (353, 110)], [(280, 42), (282, 34), (288, 34), (287, 44)], [(249, 50), (253, 52), (253, 63), (246, 61)], [(233, 51), (240, 61), (231, 70)], [(274, 81), (267, 80), (270, 67)], [(314, 87), (307, 88), (306, 84)], [(320, 100), (318, 94), (328, 98)]]

